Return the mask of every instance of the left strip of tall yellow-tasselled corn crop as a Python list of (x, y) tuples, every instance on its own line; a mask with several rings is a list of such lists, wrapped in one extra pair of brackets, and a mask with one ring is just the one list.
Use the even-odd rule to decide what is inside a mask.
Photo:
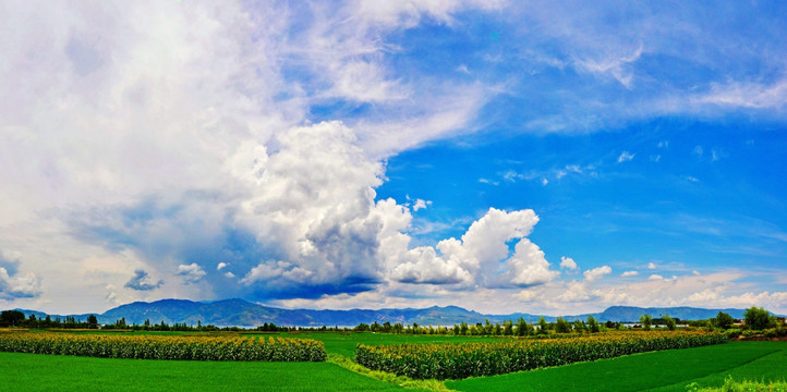
[(0, 351), (102, 358), (324, 362), (323, 342), (238, 336), (97, 335), (52, 332), (0, 333)]

